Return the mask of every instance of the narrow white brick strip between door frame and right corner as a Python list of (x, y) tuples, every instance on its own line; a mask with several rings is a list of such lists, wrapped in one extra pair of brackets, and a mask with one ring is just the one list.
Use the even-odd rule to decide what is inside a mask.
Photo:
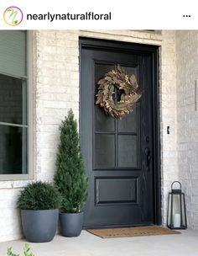
[[(162, 216), (166, 223), (170, 184), (178, 177), (176, 123), (175, 31), (162, 31), (160, 69)], [(169, 126), (169, 134), (167, 134)]]

